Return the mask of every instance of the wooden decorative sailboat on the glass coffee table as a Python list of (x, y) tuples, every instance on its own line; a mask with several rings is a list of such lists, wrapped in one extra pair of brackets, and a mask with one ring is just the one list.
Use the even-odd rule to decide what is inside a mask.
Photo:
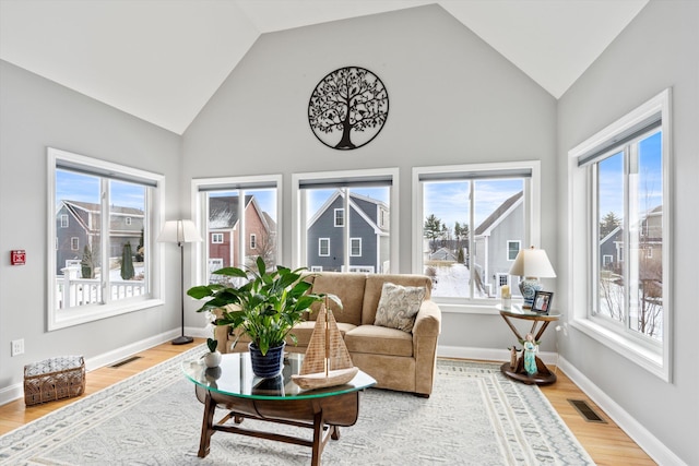
[(301, 369), (292, 380), (301, 389), (321, 389), (347, 383), (357, 372), (332, 310), (322, 304)]

